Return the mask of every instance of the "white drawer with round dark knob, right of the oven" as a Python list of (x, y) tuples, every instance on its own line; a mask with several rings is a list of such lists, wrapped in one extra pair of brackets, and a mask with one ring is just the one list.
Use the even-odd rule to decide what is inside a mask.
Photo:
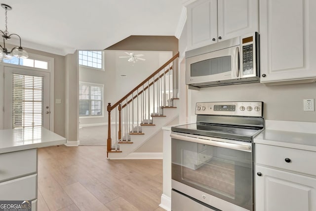
[(316, 152), (255, 144), (256, 165), (286, 169), (316, 176)]

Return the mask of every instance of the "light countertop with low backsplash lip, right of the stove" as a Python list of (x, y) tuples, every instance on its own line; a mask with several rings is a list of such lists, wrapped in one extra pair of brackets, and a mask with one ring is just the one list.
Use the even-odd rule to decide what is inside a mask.
[(266, 129), (254, 138), (254, 143), (316, 152), (315, 128), (316, 123), (266, 121)]

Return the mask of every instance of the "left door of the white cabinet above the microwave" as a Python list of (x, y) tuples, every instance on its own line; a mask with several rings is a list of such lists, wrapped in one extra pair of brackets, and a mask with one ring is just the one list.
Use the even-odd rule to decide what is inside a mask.
[(197, 0), (187, 15), (188, 50), (217, 42), (217, 0)]

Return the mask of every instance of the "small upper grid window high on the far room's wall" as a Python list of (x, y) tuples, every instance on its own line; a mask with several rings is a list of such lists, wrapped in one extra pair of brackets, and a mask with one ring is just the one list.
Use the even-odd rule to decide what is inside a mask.
[(79, 50), (79, 65), (103, 70), (103, 52)]

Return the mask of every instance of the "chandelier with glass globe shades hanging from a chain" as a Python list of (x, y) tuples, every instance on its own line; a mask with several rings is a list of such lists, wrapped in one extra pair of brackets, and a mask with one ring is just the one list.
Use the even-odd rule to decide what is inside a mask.
[[(11, 10), (12, 7), (7, 5), (7, 4), (4, 4), (4, 3), (1, 3), (1, 6), (2, 8), (5, 9), (5, 31), (2, 32), (0, 30), (0, 32), (2, 32), (2, 38), (3, 38), (3, 46), (0, 44), (0, 59), (12, 59), (13, 56), (15, 57), (18, 57), (18, 58), (27, 58), (29, 57), (29, 54), (28, 52), (26, 52), (26, 50), (24, 50), (21, 46), (21, 37), (17, 34), (10, 34), (8, 35), (8, 27), (7, 27), (7, 23), (8, 23), (8, 18), (7, 18), (7, 11), (8, 10)], [(12, 35), (15, 35), (19, 38), (20, 40), (20, 46), (16, 46), (16, 47), (13, 47), (11, 51), (8, 51), (8, 49), (5, 47), (5, 41), (6, 40), (10, 40), (11, 39), (11, 36)]]

